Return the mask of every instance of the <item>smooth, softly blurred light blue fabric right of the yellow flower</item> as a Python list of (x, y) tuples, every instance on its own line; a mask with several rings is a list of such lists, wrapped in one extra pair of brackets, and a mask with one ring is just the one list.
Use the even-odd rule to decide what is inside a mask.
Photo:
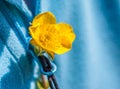
[(120, 0), (41, 3), (76, 33), (72, 50), (55, 57), (61, 89), (120, 89)]

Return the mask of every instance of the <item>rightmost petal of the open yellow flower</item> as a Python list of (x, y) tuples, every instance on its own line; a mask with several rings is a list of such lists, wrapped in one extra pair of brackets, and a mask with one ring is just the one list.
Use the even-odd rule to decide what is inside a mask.
[(60, 46), (55, 53), (63, 54), (68, 52), (72, 48), (72, 42), (75, 39), (73, 28), (65, 23), (56, 24), (55, 28), (59, 33), (59, 37), (56, 39), (58, 39), (60, 43)]

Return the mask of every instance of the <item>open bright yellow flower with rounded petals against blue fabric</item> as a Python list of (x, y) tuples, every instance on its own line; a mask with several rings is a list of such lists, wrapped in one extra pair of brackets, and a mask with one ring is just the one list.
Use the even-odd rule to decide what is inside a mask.
[(29, 27), (32, 36), (31, 44), (54, 54), (63, 54), (72, 48), (75, 39), (73, 28), (66, 23), (56, 23), (51, 12), (37, 15)]

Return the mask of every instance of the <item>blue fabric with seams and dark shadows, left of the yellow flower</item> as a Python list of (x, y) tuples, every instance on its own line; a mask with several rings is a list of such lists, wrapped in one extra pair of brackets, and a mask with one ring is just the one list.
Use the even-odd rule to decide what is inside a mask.
[(38, 65), (29, 49), (28, 26), (39, 2), (30, 8), (23, 0), (0, 1), (0, 89), (35, 88)]

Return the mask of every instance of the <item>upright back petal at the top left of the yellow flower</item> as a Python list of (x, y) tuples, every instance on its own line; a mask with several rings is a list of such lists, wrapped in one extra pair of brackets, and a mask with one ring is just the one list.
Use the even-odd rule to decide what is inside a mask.
[(38, 14), (32, 21), (32, 25), (41, 25), (41, 24), (55, 24), (56, 18), (51, 12), (45, 12)]

